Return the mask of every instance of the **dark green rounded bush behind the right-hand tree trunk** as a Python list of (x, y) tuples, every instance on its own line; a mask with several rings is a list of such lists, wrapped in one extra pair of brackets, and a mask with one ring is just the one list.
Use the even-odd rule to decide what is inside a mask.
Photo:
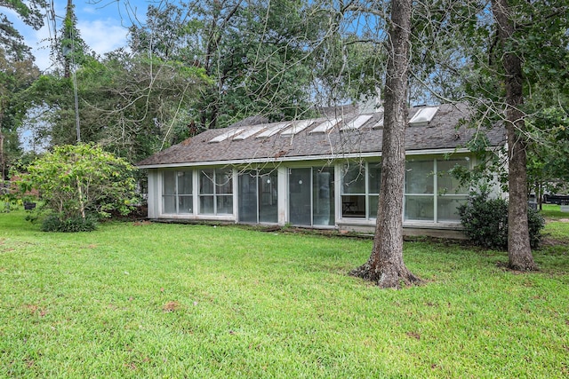
[[(464, 233), (475, 245), (486, 249), (508, 249), (508, 201), (488, 199), (487, 193), (473, 195), (459, 207)], [(538, 248), (545, 221), (535, 209), (528, 209), (530, 245)]]

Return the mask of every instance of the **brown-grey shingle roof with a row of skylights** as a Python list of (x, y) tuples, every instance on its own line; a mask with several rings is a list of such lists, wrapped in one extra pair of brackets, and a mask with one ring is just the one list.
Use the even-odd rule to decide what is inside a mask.
[[(411, 108), (409, 116), (421, 107)], [(296, 133), (283, 133), (291, 122), (247, 124), (241, 122), (230, 128), (206, 130), (196, 137), (188, 138), (178, 145), (154, 154), (137, 165), (141, 168), (180, 165), (183, 163), (219, 163), (284, 161), (316, 158), (339, 158), (357, 154), (381, 154), (383, 130), (377, 127), (383, 114), (370, 114), (370, 118), (358, 129), (341, 130), (361, 114), (337, 114), (342, 122), (326, 132), (312, 132), (319, 125), (334, 118), (332, 114), (314, 120), (309, 127)], [(465, 105), (438, 106), (433, 119), (426, 124), (409, 126), (406, 129), (405, 151), (448, 150), (465, 146), (475, 132), (461, 126), (461, 120), (469, 115)], [(253, 129), (254, 128), (254, 129)], [(269, 128), (280, 128), (268, 137)], [(233, 130), (228, 132), (228, 130)], [(289, 130), (290, 131), (290, 130)], [(254, 132), (254, 133), (253, 133)], [(506, 141), (503, 128), (484, 130), (490, 146), (501, 146)], [(241, 134), (241, 138), (239, 135)], [(227, 136), (224, 138), (224, 136)], [(244, 136), (247, 136), (244, 138)], [(216, 139), (214, 139), (216, 138)], [(212, 142), (219, 140), (219, 142)]]

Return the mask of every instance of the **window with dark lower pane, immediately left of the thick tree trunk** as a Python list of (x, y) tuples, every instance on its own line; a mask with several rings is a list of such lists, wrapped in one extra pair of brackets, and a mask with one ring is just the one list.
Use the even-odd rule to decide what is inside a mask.
[(360, 162), (344, 167), (342, 217), (375, 218), (380, 195), (381, 163)]

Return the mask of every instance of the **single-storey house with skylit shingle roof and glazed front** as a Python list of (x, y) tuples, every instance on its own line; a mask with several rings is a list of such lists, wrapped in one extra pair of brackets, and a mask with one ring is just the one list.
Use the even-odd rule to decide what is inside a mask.
[[(448, 171), (477, 163), (464, 146), (481, 130), (457, 127), (468, 115), (462, 104), (410, 109), (405, 234), (461, 236), (456, 209), (469, 189)], [(148, 217), (373, 233), (382, 129), (382, 112), (352, 107), (206, 130), (139, 162), (148, 170)], [(503, 129), (484, 132), (489, 148), (504, 146)]]

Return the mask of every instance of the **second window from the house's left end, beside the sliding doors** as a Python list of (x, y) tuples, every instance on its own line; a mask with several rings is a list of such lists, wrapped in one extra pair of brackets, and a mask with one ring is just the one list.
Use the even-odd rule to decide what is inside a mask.
[(233, 171), (201, 170), (199, 176), (199, 213), (233, 214)]

